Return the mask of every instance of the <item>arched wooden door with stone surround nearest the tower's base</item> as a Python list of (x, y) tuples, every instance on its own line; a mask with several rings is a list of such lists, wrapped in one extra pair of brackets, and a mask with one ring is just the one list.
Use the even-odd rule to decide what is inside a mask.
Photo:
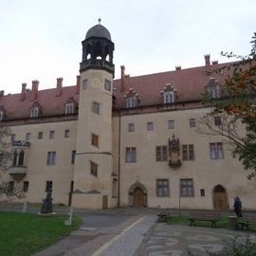
[(129, 190), (129, 206), (147, 207), (147, 190), (139, 182), (136, 182)]

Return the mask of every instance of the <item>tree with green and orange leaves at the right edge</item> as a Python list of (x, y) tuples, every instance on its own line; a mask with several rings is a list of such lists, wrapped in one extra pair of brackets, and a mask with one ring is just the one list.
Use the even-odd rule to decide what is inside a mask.
[[(222, 67), (233, 68), (233, 72), (226, 78), (224, 93), (220, 99), (212, 99), (209, 94), (204, 95), (204, 103), (213, 108), (201, 120), (201, 124), (206, 127), (203, 133), (229, 138), (229, 143), (234, 146), (233, 154), (238, 155), (245, 169), (249, 171), (249, 179), (256, 176), (256, 33), (251, 44), (252, 48), (247, 56), (222, 52), (222, 55), (236, 57), (240, 61)], [(218, 128), (210, 122), (210, 118), (216, 116), (224, 119), (224, 123)], [(239, 131), (239, 123), (244, 125), (243, 133)]]

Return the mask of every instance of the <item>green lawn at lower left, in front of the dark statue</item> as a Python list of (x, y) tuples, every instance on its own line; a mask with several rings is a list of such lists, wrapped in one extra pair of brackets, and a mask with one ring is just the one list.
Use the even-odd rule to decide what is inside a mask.
[(0, 212), (0, 255), (31, 255), (82, 225), (82, 220), (74, 216), (72, 226), (64, 226), (67, 219), (64, 215)]

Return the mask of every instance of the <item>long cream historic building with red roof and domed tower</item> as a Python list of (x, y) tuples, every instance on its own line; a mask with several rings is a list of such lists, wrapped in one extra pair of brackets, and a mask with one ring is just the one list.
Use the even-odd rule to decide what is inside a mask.
[[(1, 179), (22, 187), (28, 202), (52, 191), (55, 204), (227, 209), (239, 195), (256, 209), (256, 187), (223, 137), (201, 135), (198, 120), (210, 108), (208, 91), (221, 97), (224, 64), (114, 80), (114, 43), (101, 24), (82, 41), (76, 85), (0, 94), (0, 119), (11, 128), (13, 159)], [(221, 118), (212, 120), (220, 126)], [(17, 200), (12, 198), (13, 200)], [(1, 200), (11, 200), (2, 197)]]

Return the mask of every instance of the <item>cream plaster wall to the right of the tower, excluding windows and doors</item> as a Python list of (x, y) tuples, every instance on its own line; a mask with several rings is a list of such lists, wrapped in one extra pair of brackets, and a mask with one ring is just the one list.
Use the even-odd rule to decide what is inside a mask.
[[(256, 202), (251, 194), (256, 192), (253, 181), (247, 180), (247, 171), (241, 162), (231, 156), (229, 145), (223, 137), (199, 135), (196, 128), (190, 128), (190, 119), (200, 119), (207, 113), (206, 108), (170, 111), (144, 115), (127, 115), (120, 119), (120, 204), (131, 205), (129, 189), (139, 182), (147, 190), (147, 206), (159, 208), (212, 209), (213, 188), (220, 184), (228, 194), (229, 207), (233, 197), (239, 195), (244, 209), (255, 209)], [(167, 127), (168, 120), (174, 120), (174, 129)], [(147, 122), (154, 122), (154, 130), (147, 131)], [(135, 124), (135, 132), (128, 132), (128, 124)], [(115, 163), (118, 169), (119, 117), (113, 120)], [(194, 160), (182, 161), (174, 170), (168, 162), (155, 161), (155, 146), (168, 145), (168, 138), (178, 137), (180, 144), (194, 145)], [(223, 142), (224, 158), (210, 159), (210, 143)], [(137, 148), (137, 162), (125, 162), (125, 148)], [(192, 178), (194, 196), (182, 197), (179, 192), (180, 179)], [(169, 179), (170, 196), (156, 196), (156, 179)], [(205, 196), (200, 195), (205, 190)]]

